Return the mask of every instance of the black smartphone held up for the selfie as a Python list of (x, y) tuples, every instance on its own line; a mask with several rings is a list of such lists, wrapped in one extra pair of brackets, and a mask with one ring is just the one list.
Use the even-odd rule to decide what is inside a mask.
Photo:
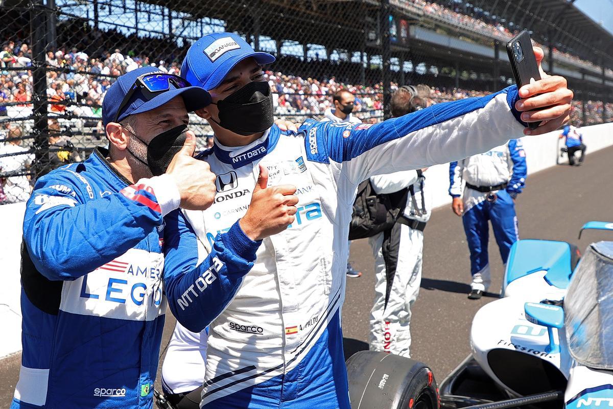
[[(506, 44), (506, 52), (511, 61), (511, 69), (518, 89), (529, 84), (532, 79), (535, 81), (541, 79), (535, 53), (532, 50), (532, 40), (527, 30), (520, 32)], [(540, 121), (530, 122), (528, 128), (536, 129), (540, 123)]]

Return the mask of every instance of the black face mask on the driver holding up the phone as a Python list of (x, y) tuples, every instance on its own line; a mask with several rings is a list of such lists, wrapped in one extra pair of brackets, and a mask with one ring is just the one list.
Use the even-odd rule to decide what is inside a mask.
[(267, 82), (250, 82), (221, 101), (211, 102), (219, 109), (219, 122), (235, 134), (249, 136), (270, 128), (273, 117), (272, 93)]

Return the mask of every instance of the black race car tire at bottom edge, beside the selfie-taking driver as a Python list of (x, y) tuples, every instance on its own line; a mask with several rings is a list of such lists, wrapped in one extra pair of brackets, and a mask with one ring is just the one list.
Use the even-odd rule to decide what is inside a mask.
[(346, 362), (351, 409), (438, 409), (432, 370), (422, 362), (360, 351)]

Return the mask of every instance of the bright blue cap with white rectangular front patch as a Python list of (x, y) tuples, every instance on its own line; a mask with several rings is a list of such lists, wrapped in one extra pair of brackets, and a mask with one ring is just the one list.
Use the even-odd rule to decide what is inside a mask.
[(255, 52), (234, 32), (207, 34), (189, 47), (181, 65), (181, 77), (205, 90), (212, 90), (236, 64), (249, 57), (262, 65), (275, 61), (275, 57), (268, 53)]

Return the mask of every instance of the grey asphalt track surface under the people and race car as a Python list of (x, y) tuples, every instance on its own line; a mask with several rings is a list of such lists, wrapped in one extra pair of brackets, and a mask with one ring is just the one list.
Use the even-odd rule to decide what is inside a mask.
[[(527, 188), (516, 202), (520, 237), (564, 240), (579, 245), (583, 252), (590, 242), (613, 240), (597, 231), (584, 233), (589, 220), (613, 221), (613, 147), (588, 155), (584, 166), (566, 164), (543, 170), (527, 178)], [(447, 189), (447, 186), (428, 186)], [(500, 291), (503, 266), (490, 232), (492, 288)], [(364, 272), (348, 278), (343, 307), (346, 355), (367, 349), (368, 314), (374, 298), (373, 257), (367, 240), (351, 247), (353, 266)], [(498, 294), (468, 300), (470, 281), (468, 247), (460, 219), (449, 207), (435, 210), (425, 229), (424, 273), (419, 298), (413, 307), (411, 355), (430, 365), (440, 383), (469, 353), (470, 324), (474, 313)], [(167, 315), (162, 349), (175, 320)], [(0, 407), (8, 407), (19, 373), (20, 354), (0, 360)], [(159, 372), (156, 385), (159, 388)]]

